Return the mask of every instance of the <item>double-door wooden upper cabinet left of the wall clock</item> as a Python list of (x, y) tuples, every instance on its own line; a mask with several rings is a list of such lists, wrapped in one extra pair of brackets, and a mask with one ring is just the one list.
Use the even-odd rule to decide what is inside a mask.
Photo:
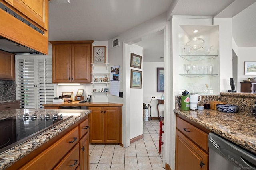
[(92, 42), (50, 41), (53, 83), (90, 83)]

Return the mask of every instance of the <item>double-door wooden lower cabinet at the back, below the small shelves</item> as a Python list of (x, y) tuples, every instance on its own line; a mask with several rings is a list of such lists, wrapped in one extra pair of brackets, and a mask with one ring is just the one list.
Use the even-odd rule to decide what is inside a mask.
[(121, 107), (88, 107), (90, 143), (122, 143)]

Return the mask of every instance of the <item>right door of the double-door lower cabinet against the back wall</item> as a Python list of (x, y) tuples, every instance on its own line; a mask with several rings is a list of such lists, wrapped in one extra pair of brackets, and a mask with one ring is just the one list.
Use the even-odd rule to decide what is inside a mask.
[(105, 143), (120, 143), (120, 119), (118, 107), (104, 107)]

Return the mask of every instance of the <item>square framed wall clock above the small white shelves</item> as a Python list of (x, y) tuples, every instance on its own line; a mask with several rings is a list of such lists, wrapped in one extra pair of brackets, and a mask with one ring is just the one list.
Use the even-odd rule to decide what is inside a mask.
[(93, 46), (93, 63), (106, 63), (106, 46)]

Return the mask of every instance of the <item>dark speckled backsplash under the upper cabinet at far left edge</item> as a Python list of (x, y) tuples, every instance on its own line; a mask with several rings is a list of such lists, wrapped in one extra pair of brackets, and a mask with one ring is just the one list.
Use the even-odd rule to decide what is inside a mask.
[(15, 81), (0, 80), (0, 101), (15, 100)]

